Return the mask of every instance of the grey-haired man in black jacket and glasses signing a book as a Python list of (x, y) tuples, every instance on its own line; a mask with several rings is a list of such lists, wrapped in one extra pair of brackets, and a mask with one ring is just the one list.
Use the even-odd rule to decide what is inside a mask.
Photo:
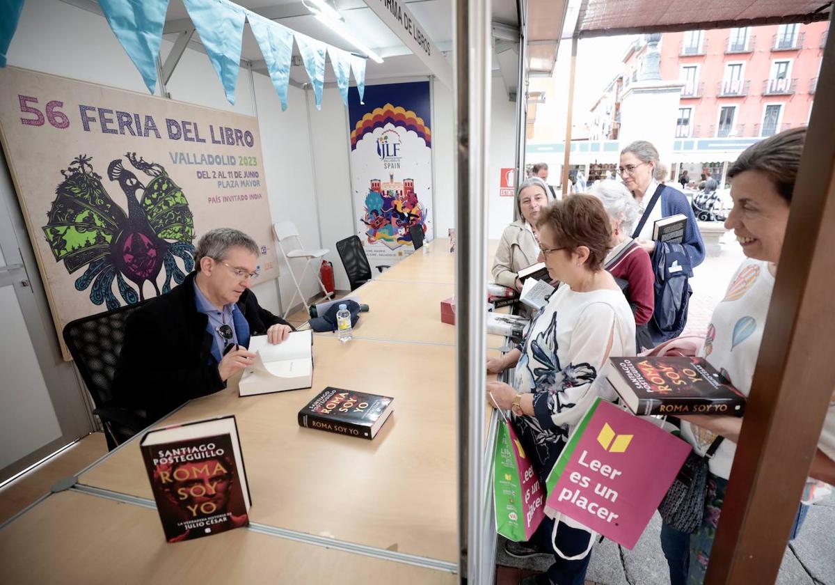
[(225, 388), (253, 363), (253, 335), (281, 343), (292, 331), (259, 306), (250, 290), (259, 249), (242, 231), (206, 232), (195, 249), (195, 270), (128, 318), (114, 375), (114, 403), (158, 420), (187, 400)]

